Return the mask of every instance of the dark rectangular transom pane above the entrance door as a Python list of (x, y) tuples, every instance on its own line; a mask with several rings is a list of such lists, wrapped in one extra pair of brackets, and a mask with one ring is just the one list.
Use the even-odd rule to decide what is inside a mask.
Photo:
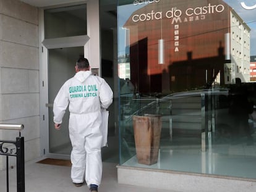
[(87, 35), (86, 4), (45, 10), (45, 38)]

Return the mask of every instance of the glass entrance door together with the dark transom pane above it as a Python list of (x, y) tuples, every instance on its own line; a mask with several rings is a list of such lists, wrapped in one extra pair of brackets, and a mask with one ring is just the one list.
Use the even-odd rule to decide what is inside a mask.
[[(40, 121), (41, 155), (69, 159), (69, 110), (61, 130), (55, 130), (53, 101), (66, 80), (75, 75), (75, 62), (88, 53), (87, 4), (41, 10)], [(87, 58), (90, 55), (86, 56)]]

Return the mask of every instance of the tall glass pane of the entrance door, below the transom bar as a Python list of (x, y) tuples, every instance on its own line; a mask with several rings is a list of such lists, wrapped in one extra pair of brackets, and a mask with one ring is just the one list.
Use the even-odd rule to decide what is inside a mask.
[[(83, 55), (83, 47), (49, 49), (48, 101), (53, 104), (59, 89), (66, 80), (75, 75), (75, 62)], [(70, 154), (69, 111), (62, 120), (61, 130), (54, 129), (53, 108), (49, 107), (49, 152)]]

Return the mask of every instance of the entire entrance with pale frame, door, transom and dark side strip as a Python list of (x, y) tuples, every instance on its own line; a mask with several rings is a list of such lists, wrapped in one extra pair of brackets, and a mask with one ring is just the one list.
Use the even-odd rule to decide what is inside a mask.
[[(117, 58), (116, 58), (116, 2), (111, 1), (106, 4), (97, 4), (98, 1), (87, 1), (85, 6), (69, 6), (48, 10), (49, 14), (45, 17), (45, 10), (41, 12), (42, 23), (48, 20), (42, 30), (47, 34), (42, 34), (42, 53), (40, 54), (40, 136), (41, 136), (41, 155), (56, 158), (70, 158), (70, 140), (67, 128), (68, 110), (64, 117), (61, 131), (54, 129), (53, 123), (53, 100), (58, 93), (59, 88), (70, 77), (74, 76), (74, 65), (80, 55), (88, 58), (91, 68), (98, 72), (98, 75), (105, 78), (107, 83), (114, 91), (113, 104), (109, 107), (109, 138), (108, 148), (103, 148), (103, 161), (118, 163), (118, 94), (117, 90)], [(100, 1), (101, 2), (101, 1)], [(82, 10), (78, 10), (82, 7)], [(97, 9), (100, 7), (100, 14)], [(104, 8), (104, 9), (103, 9)], [(64, 14), (61, 15), (61, 12)], [(78, 17), (80, 20), (79, 27), (70, 28), (62, 27), (61, 33), (55, 30), (55, 26), (66, 25), (64, 21), (70, 21), (70, 18)], [(107, 15), (105, 15), (105, 14)], [(111, 14), (109, 14), (111, 13)], [(54, 16), (55, 15), (55, 16)], [(69, 15), (68, 19), (65, 19)], [(100, 16), (101, 15), (101, 16)], [(56, 17), (51, 19), (51, 16)], [(103, 22), (104, 20), (104, 22)], [(81, 25), (81, 22), (87, 25)], [(97, 25), (98, 22), (98, 25)], [(104, 23), (100, 26), (100, 22)], [(48, 23), (48, 24), (47, 24)], [(77, 22), (73, 22), (72, 25)], [(108, 23), (108, 25), (106, 25)], [(83, 30), (80, 30), (80, 27)], [(114, 30), (113, 30), (114, 28)], [(58, 30), (58, 28), (57, 28)], [(101, 31), (101, 35), (100, 35)], [(58, 36), (58, 33), (60, 34)], [(57, 34), (57, 35), (56, 35)], [(101, 41), (100, 41), (101, 38)], [(101, 50), (100, 50), (101, 49)], [(101, 59), (101, 61), (100, 61)]]

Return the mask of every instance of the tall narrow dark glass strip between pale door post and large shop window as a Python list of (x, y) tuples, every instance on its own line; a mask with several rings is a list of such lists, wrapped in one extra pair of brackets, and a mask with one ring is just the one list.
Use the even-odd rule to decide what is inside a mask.
[[(101, 48), (101, 77), (106, 80), (115, 92), (118, 86), (116, 74), (116, 4), (117, 0), (100, 1), (100, 48)], [(114, 53), (115, 52), (115, 53)], [(108, 148), (101, 149), (104, 162), (119, 163), (118, 144), (118, 95), (114, 94), (113, 104), (109, 106), (108, 119)]]

